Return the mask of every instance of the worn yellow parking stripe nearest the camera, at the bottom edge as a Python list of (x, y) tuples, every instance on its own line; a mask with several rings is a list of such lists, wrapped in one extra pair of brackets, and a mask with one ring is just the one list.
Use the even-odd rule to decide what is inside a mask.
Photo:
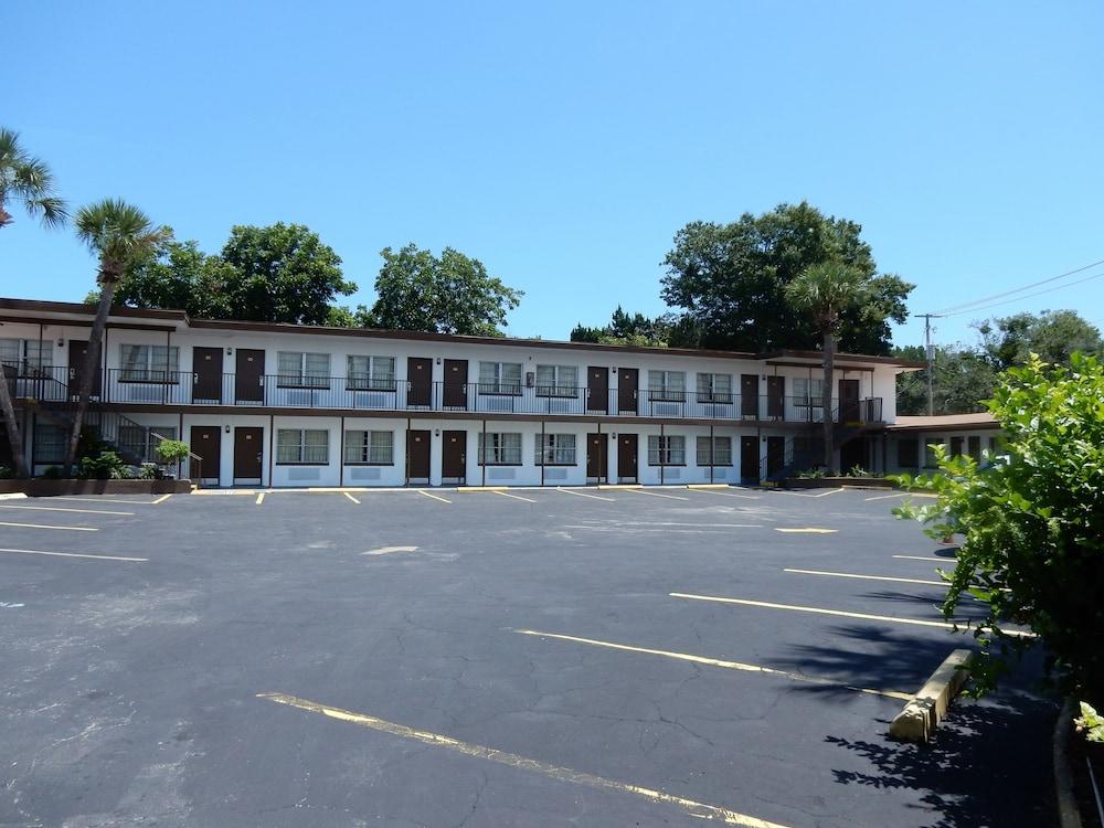
[(285, 704), (290, 708), (298, 708), (299, 710), (306, 710), (311, 713), (320, 713), (321, 715), (329, 716), (330, 719), (337, 719), (341, 722), (359, 724), (380, 733), (388, 733), (401, 739), (421, 742), (422, 744), (429, 745), (431, 747), (443, 747), (447, 751), (453, 751), (465, 756), (471, 756), (473, 758), (496, 762), (500, 765), (506, 765), (507, 767), (512, 767), (519, 771), (530, 771), (543, 774), (544, 776), (558, 779), (559, 782), (570, 782), (574, 785), (583, 785), (597, 790), (633, 794), (654, 803), (675, 805), (690, 816), (698, 817), (699, 819), (716, 820), (724, 822), (725, 825), (742, 826), (742, 828), (785, 828), (785, 826), (782, 826), (778, 822), (768, 822), (765, 819), (751, 817), (746, 814), (737, 814), (736, 811), (729, 810), (728, 808), (721, 808), (715, 805), (705, 805), (704, 803), (687, 799), (686, 797), (665, 794), (662, 790), (640, 787), (639, 785), (630, 785), (615, 779), (607, 779), (605, 777), (595, 776), (594, 774), (584, 773), (582, 771), (573, 771), (570, 767), (550, 765), (546, 762), (519, 756), (516, 753), (499, 751), (495, 747), (486, 747), (484, 745), (461, 742), (458, 739), (453, 739), (452, 736), (446, 736), (440, 733), (415, 730), (414, 728), (408, 728), (405, 724), (396, 724), (395, 722), (378, 719), (374, 715), (368, 715), (367, 713), (354, 713), (350, 710), (342, 710), (341, 708), (319, 704), (318, 702), (299, 699), (286, 693), (257, 693), (257, 698), (265, 699), (266, 701), (272, 701), (277, 704)]

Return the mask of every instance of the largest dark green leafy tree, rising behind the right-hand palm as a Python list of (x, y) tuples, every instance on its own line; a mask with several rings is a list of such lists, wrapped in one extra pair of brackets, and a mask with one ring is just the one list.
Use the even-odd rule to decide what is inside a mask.
[(731, 224), (687, 224), (664, 259), (662, 298), (684, 311), (671, 344), (752, 352), (815, 348), (820, 331), (810, 318), (789, 312), (785, 290), (810, 265), (832, 261), (854, 268), (864, 286), (863, 301), (840, 314), (841, 350), (889, 353), (890, 322), (906, 319), (913, 285), (878, 275), (861, 230), (806, 202), (745, 213)]

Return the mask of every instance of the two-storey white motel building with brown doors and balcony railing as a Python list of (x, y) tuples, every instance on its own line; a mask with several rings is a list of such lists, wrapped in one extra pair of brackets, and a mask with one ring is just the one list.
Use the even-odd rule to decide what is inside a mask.
[[(94, 310), (0, 299), (0, 362), (35, 474), (63, 459)], [(919, 368), (838, 354), (827, 413), (837, 467), (887, 467), (895, 378)], [(203, 486), (757, 484), (822, 461), (821, 378), (817, 351), (116, 308), (92, 378), (89, 422), (131, 461), (151, 457), (161, 437), (184, 440), (193, 455), (184, 473)]]

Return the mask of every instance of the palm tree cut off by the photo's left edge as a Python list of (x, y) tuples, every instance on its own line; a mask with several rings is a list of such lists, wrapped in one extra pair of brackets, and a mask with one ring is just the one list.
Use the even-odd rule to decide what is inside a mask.
[[(59, 226), (68, 217), (65, 202), (54, 195), (54, 177), (50, 168), (38, 158), (29, 156), (26, 150), (19, 146), (18, 132), (0, 127), (0, 227), (14, 221), (14, 216), (7, 209), (12, 201), (22, 201), (26, 212), (32, 216), (41, 216), (42, 223), (46, 226)], [(11, 391), (8, 388), (8, 373), (0, 365), (0, 413), (8, 429), (8, 444), (11, 446), (15, 475), (26, 477), (23, 437), (20, 434), (15, 406), (12, 404)], [(19, 375), (18, 368), (15, 375)]]

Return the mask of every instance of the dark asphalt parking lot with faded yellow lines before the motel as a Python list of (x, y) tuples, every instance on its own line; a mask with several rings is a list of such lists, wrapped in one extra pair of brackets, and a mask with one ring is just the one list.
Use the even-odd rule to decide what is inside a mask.
[(1050, 825), (1037, 665), (927, 746), (877, 491), (0, 502), (0, 826)]

